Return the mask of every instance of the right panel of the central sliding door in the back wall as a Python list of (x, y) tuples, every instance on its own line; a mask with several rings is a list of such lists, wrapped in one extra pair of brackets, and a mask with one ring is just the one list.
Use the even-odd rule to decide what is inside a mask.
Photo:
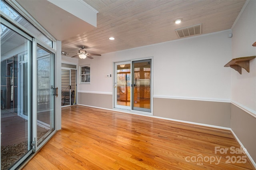
[(132, 110), (151, 112), (151, 59), (132, 62)]

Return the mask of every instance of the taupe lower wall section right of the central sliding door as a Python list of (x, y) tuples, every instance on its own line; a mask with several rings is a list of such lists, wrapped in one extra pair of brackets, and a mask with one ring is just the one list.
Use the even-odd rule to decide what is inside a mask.
[(230, 127), (230, 103), (154, 98), (154, 116)]

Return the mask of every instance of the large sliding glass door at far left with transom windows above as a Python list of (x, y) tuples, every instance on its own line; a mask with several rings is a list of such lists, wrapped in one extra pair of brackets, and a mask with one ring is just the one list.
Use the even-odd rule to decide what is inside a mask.
[[(1, 169), (14, 170), (54, 134), (56, 51), (42, 33), (32, 37), (38, 30), (28, 31), (33, 26), (0, 2)], [(42, 37), (47, 41), (37, 39)]]

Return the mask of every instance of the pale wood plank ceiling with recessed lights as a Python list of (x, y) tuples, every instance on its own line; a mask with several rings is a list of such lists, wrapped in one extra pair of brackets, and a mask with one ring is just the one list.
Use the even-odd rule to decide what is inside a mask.
[[(97, 28), (62, 41), (62, 51), (109, 53), (179, 39), (175, 30), (202, 24), (202, 34), (229, 30), (246, 0), (84, 0)], [(181, 24), (174, 20), (182, 18)], [(75, 26), (74, 26), (75, 27)], [(110, 41), (108, 38), (114, 37)], [(68, 56), (73, 56), (71, 53)]]

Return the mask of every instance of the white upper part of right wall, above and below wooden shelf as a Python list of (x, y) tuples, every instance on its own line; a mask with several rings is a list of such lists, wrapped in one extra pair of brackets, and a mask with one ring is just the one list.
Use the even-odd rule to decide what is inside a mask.
[[(233, 29), (232, 58), (256, 55), (256, 1), (250, 0)], [(256, 113), (256, 59), (250, 61), (250, 73), (232, 70), (231, 100)]]

